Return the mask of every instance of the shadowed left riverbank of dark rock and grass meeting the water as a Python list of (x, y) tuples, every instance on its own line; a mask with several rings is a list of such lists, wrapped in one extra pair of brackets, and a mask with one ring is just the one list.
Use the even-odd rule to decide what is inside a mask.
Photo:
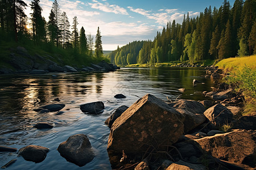
[[(31, 50), (31, 48), (29, 48)], [(94, 71), (114, 71), (120, 67), (114, 66), (102, 60), (84, 58), (79, 63), (80, 58), (75, 61), (65, 61), (60, 54), (53, 54), (52, 57), (48, 53), (41, 52), (32, 53), (23, 46), (10, 48), (5, 53), (0, 62), (0, 74), (16, 73), (16, 74), (44, 74), (44, 73), (63, 73), (63, 72), (94, 72)], [(79, 54), (77, 54), (79, 55)], [(94, 61), (94, 63), (93, 63)], [(87, 66), (82, 65), (86, 63)], [(96, 64), (97, 63), (97, 64)]]

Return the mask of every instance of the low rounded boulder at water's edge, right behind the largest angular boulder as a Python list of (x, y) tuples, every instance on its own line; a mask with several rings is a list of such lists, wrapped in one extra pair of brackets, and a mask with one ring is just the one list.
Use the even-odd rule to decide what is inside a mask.
[(194, 101), (194, 100), (178, 100), (173, 105), (175, 109), (186, 109), (187, 111), (194, 113), (194, 114), (204, 114), (205, 107), (203, 104)]

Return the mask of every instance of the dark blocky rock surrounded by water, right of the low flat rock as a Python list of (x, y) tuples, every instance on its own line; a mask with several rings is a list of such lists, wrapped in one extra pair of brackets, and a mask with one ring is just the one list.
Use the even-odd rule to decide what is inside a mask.
[(103, 109), (105, 109), (104, 103), (102, 101), (96, 101), (92, 103), (86, 103), (80, 105), (80, 109), (84, 113), (100, 113)]

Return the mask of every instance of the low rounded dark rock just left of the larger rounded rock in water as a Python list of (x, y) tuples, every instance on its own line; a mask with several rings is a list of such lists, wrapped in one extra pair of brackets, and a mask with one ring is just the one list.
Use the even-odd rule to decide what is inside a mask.
[(20, 148), (19, 155), (21, 155), (25, 160), (39, 163), (46, 158), (48, 151), (49, 148), (47, 147), (28, 145), (26, 147)]

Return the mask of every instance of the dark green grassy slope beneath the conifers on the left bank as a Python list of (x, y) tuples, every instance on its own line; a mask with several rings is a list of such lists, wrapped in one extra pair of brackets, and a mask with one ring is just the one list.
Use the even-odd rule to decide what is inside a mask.
[[(49, 43), (43, 43), (40, 45), (35, 45), (33, 41), (26, 40), (16, 43), (15, 41), (0, 40), (0, 66), (12, 67), (9, 64), (10, 53), (15, 53), (17, 46), (23, 46), (27, 49), (28, 54), (31, 56), (39, 54), (52, 61), (58, 63), (59, 65), (71, 65), (76, 67), (82, 67), (82, 65), (89, 65), (91, 62), (97, 63), (102, 59), (96, 59), (94, 57), (89, 57), (87, 54), (80, 54), (77, 49), (63, 49), (61, 47), (57, 48), (55, 45)], [(53, 57), (49, 57), (49, 56)], [(108, 59), (105, 59), (108, 61)]]

